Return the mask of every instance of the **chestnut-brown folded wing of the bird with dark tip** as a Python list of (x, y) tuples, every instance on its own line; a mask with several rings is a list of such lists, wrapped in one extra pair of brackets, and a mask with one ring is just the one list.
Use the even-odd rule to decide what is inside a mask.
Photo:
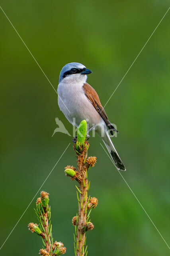
[(106, 112), (104, 111), (104, 108), (102, 107), (102, 104), (100, 102), (97, 92), (88, 83), (85, 83), (83, 85), (83, 90), (84, 90), (84, 93), (85, 93), (86, 97), (88, 98), (88, 100), (92, 103), (94, 108), (96, 108), (96, 110), (98, 111), (100, 116), (103, 118), (104, 122), (106, 123), (107, 127), (109, 128), (109, 132), (111, 133), (111, 135), (113, 135), (113, 130), (116, 132), (117, 132), (117, 130), (109, 122)]

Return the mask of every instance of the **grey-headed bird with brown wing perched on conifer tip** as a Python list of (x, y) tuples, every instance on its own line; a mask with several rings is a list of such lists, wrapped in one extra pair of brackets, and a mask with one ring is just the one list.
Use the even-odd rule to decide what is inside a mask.
[(78, 127), (82, 120), (86, 120), (88, 132), (94, 128), (102, 138), (117, 170), (125, 171), (125, 165), (109, 136), (117, 130), (109, 122), (97, 92), (86, 82), (87, 75), (91, 73), (78, 62), (68, 63), (62, 68), (57, 88), (59, 108), (73, 126)]

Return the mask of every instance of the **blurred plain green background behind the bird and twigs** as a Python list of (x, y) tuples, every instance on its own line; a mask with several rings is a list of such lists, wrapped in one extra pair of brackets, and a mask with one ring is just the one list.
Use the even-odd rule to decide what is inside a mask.
[[(0, 5), (57, 89), (68, 62), (93, 71), (88, 77), (103, 105), (168, 10), (169, 1), (1, 0)], [(50, 194), (53, 236), (74, 254), (72, 216), (75, 182), (64, 175), (76, 166), (72, 137), (53, 131), (57, 94), (0, 10), (1, 232), (4, 243), (53, 166), (43, 185)], [(105, 107), (119, 134), (113, 142), (127, 172), (121, 172), (150, 218), (170, 244), (169, 126), (170, 11)], [(90, 195), (99, 200), (95, 226), (87, 234), (89, 255), (169, 255), (127, 184), (100, 146), (90, 138)], [(41, 239), (27, 225), (36, 222), (36, 198), (1, 249), (1, 255), (38, 255)], [(1, 246), (1, 245), (0, 245)]]

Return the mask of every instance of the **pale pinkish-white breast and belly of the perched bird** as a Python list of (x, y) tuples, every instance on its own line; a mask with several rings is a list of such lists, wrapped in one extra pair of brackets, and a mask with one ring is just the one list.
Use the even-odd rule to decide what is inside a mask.
[(84, 94), (82, 86), (85, 82), (86, 80), (76, 80), (75, 82), (75, 80), (64, 78), (57, 89), (58, 104), (71, 124), (78, 126), (85, 119), (90, 128), (100, 123), (101, 116)]

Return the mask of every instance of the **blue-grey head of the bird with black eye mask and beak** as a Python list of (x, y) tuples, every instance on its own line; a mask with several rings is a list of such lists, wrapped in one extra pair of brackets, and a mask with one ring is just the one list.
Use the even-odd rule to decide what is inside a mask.
[(87, 69), (83, 64), (78, 63), (78, 62), (71, 62), (66, 64), (61, 72), (60, 72), (60, 78), (59, 78), (59, 83), (61, 80), (63, 80), (65, 77), (68, 76), (75, 76), (75, 75), (87, 75), (92, 73), (90, 69)]

